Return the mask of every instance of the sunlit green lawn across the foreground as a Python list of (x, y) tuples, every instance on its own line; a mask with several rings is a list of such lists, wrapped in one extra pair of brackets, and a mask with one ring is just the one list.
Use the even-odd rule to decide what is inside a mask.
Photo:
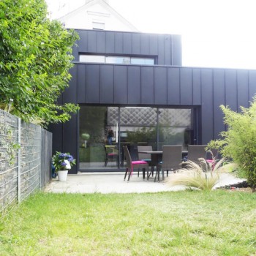
[(0, 255), (255, 255), (256, 194), (38, 193), (1, 217)]

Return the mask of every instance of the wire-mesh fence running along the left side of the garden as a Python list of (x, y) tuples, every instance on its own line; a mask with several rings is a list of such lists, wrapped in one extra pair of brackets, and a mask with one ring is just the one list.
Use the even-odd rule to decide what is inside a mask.
[(0, 110), (0, 211), (50, 181), (52, 134)]

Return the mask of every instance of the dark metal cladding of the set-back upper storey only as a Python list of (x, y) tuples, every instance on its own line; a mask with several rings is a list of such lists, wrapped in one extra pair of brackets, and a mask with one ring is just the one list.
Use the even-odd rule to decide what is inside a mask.
[(152, 56), (160, 65), (181, 66), (181, 36), (134, 32), (76, 30), (80, 36), (74, 48), (75, 61), (80, 53), (120, 56)]

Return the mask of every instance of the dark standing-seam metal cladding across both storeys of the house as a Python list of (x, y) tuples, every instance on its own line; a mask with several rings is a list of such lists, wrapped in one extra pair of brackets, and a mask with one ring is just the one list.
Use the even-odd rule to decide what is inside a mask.
[[(79, 34), (76, 61), (79, 53), (142, 54), (157, 56), (162, 65), (75, 63), (63, 103), (196, 108), (200, 120), (197, 143), (206, 144), (225, 130), (219, 105), (239, 111), (239, 106), (249, 107), (256, 93), (256, 70), (171, 67), (181, 63), (180, 37), (113, 31)], [(166, 41), (173, 42), (173, 55)], [(53, 151), (68, 151), (78, 158), (78, 127), (76, 115), (53, 126)]]

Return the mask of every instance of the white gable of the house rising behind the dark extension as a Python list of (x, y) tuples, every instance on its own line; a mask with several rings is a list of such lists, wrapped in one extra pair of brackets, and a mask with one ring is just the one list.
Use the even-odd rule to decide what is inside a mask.
[[(121, 16), (105, 0), (86, 1), (81, 7), (72, 10), (58, 19), (69, 29), (93, 29), (92, 23), (104, 23), (106, 30), (136, 31), (138, 29)], [(120, 29), (118, 29), (120, 28)]]

